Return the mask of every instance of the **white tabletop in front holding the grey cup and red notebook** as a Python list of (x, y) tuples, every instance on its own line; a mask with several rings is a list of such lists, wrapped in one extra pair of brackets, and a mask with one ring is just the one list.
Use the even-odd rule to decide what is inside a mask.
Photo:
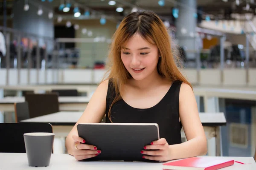
[[(236, 163), (221, 170), (256, 170), (253, 157), (222, 157)], [(163, 163), (124, 161), (76, 161), (68, 154), (52, 154), (49, 167), (29, 167), (26, 153), (0, 153), (0, 170), (163, 170)]]

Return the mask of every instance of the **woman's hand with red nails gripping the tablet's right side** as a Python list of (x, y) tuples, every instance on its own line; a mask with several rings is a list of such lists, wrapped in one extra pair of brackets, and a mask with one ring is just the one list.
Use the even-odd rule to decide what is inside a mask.
[(169, 144), (164, 138), (151, 142), (140, 153), (145, 154), (143, 158), (154, 161), (169, 161), (171, 155)]

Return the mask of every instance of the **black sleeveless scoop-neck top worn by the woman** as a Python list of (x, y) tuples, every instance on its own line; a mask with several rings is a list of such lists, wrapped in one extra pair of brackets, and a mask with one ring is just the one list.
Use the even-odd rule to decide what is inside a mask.
[[(157, 123), (160, 138), (165, 138), (168, 144), (181, 143), (181, 122), (179, 121), (179, 94), (182, 82), (175, 81), (166, 95), (157, 105), (151, 108), (139, 109), (128, 105), (123, 99), (117, 101), (111, 108), (113, 123)], [(111, 123), (108, 110), (113, 102), (115, 91), (111, 80), (108, 82), (106, 123)]]

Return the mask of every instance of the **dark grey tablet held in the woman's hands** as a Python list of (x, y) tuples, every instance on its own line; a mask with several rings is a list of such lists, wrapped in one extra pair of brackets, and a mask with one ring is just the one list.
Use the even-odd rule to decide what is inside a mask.
[(77, 130), (86, 144), (101, 150), (83, 161), (150, 161), (140, 151), (159, 139), (156, 123), (80, 123)]

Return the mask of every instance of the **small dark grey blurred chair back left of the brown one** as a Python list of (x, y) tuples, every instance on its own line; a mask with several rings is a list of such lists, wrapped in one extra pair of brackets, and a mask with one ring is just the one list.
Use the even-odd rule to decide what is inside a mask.
[(28, 102), (14, 103), (15, 122), (29, 119), (29, 104)]

